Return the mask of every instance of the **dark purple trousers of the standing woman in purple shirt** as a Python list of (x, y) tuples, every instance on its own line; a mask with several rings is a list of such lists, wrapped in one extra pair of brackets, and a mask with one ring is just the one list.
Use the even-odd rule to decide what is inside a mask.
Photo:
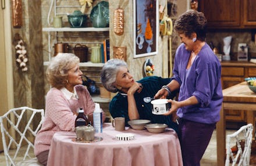
[(179, 139), (182, 147), (184, 166), (198, 166), (204, 155), (214, 131), (216, 123), (202, 124), (189, 120), (179, 119)]

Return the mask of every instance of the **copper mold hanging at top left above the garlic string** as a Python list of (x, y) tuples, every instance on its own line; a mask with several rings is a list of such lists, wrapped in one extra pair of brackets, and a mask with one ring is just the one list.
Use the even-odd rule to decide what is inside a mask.
[(22, 0), (12, 0), (13, 28), (22, 27)]

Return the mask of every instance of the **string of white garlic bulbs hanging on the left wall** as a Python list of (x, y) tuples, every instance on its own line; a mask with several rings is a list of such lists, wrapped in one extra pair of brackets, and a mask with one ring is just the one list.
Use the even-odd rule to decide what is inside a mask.
[(19, 34), (15, 34), (14, 37), (15, 42), (15, 50), (16, 50), (16, 63), (17, 66), (23, 71), (27, 71), (27, 62), (29, 59), (27, 59), (27, 50), (25, 47), (25, 43), (23, 39), (20, 37)]

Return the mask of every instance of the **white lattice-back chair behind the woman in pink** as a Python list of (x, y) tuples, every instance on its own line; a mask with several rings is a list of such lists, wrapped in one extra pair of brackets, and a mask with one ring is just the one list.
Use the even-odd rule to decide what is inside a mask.
[(44, 110), (30, 107), (10, 109), (0, 117), (6, 165), (41, 165), (34, 156), (34, 138), (43, 120)]

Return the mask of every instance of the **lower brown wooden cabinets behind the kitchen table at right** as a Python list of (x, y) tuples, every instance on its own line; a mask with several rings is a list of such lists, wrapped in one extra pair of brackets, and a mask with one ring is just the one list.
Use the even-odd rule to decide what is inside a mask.
[[(249, 62), (222, 62), (222, 89), (239, 84), (246, 77), (256, 76), (256, 64)], [(226, 121), (246, 122), (246, 111), (226, 110)]]

